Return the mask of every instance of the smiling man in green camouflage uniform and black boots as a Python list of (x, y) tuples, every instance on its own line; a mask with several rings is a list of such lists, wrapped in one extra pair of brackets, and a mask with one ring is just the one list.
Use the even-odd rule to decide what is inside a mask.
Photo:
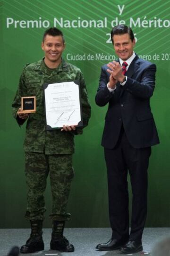
[[(88, 124), (91, 107), (89, 104), (85, 81), (80, 69), (65, 62), (61, 55), (65, 49), (64, 37), (57, 28), (45, 31), (42, 50), (45, 57), (39, 62), (26, 65), (14, 98), (13, 115), (19, 125), (26, 124), (24, 150), (26, 154), (26, 183), (28, 185), (26, 219), (31, 222), (31, 235), (21, 253), (33, 253), (43, 250), (42, 221), (45, 203), (43, 193), (46, 179), (50, 174), (52, 193), (53, 221), (51, 249), (72, 252), (74, 246), (63, 236), (65, 221), (70, 219), (67, 212), (68, 195), (74, 176), (72, 154), (74, 153), (74, 135), (82, 134), (82, 127), (63, 126), (61, 130), (45, 130), (43, 104), (44, 83), (60, 81), (80, 81), (80, 95), (84, 127)], [(35, 114), (18, 114), (21, 97), (36, 96)]]

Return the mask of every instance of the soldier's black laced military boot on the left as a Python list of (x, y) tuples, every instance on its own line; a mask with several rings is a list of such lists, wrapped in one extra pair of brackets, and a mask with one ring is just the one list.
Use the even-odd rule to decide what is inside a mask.
[(30, 221), (31, 222), (31, 235), (20, 249), (21, 253), (34, 253), (44, 249), (42, 240), (42, 220)]

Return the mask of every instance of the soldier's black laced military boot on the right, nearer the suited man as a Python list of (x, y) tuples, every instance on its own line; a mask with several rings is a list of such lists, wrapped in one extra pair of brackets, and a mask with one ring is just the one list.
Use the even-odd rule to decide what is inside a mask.
[(63, 236), (65, 221), (52, 222), (52, 235), (50, 248), (60, 252), (74, 252), (74, 246), (69, 244), (68, 240)]

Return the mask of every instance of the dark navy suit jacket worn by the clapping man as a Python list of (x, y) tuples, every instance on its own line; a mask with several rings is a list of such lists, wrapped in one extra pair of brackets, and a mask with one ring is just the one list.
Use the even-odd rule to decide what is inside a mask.
[(158, 133), (150, 107), (150, 97), (155, 87), (156, 66), (136, 55), (127, 70), (124, 86), (117, 83), (114, 92), (107, 88), (110, 74), (102, 66), (99, 88), (95, 97), (98, 106), (109, 103), (105, 117), (102, 146), (113, 149), (118, 141), (123, 123), (129, 143), (136, 149), (159, 143)]

